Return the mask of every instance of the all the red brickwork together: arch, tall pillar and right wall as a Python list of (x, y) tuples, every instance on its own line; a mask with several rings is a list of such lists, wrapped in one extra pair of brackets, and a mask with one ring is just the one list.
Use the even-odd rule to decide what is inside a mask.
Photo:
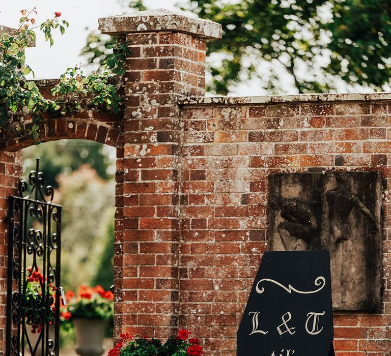
[[(85, 111), (41, 128), (43, 141), (83, 138), (117, 147), (115, 336), (164, 338), (185, 327), (206, 355), (234, 356), (248, 293), (268, 249), (268, 174), (371, 169), (384, 177), (383, 308), (377, 315), (335, 313), (334, 347), (338, 356), (390, 356), (391, 98), (186, 104), (179, 98), (204, 95), (205, 39), (143, 25), (143, 33), (115, 31), (130, 50), (124, 112)], [(12, 141), (0, 149), (0, 350), (6, 197), (21, 174), (20, 149), (31, 144)]]

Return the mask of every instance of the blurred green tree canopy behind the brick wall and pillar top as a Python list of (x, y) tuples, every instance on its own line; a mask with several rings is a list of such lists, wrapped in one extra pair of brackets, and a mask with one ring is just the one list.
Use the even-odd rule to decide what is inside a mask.
[[(145, 9), (139, 0), (122, 2)], [(270, 94), (292, 86), (298, 93), (389, 88), (390, 0), (194, 0), (182, 9), (222, 25), (222, 38), (208, 44), (214, 94), (254, 77)], [(102, 61), (106, 43), (89, 37), (90, 63)]]

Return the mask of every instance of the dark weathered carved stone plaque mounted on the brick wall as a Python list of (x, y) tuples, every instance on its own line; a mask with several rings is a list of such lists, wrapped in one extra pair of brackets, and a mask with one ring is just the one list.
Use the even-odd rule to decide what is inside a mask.
[(334, 310), (381, 307), (381, 173), (269, 176), (271, 251), (329, 250)]

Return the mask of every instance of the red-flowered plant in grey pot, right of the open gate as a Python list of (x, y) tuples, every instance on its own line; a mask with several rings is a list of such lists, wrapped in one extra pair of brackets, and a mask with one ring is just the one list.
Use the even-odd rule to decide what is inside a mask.
[(81, 356), (99, 356), (104, 352), (103, 339), (108, 320), (113, 318), (114, 295), (100, 285), (81, 285), (78, 294), (65, 294), (67, 306), (61, 319), (76, 328), (76, 352)]

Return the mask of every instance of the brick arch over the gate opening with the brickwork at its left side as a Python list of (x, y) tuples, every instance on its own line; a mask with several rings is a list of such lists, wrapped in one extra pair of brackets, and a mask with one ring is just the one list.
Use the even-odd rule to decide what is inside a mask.
[[(44, 88), (45, 90), (45, 88)], [(110, 146), (121, 144), (122, 114), (84, 111), (75, 116), (63, 116), (50, 120), (40, 127), (40, 140), (49, 142), (59, 139), (85, 139)], [(5, 217), (8, 212), (8, 197), (17, 194), (22, 179), (22, 149), (35, 144), (32, 139), (9, 140), (0, 144), (0, 308), (6, 310), (7, 303), (7, 251), (8, 225)], [(117, 150), (121, 155), (123, 150)], [(121, 162), (122, 157), (119, 157)], [(116, 203), (120, 200), (116, 199)], [(0, 317), (0, 355), (5, 352), (6, 315)]]

